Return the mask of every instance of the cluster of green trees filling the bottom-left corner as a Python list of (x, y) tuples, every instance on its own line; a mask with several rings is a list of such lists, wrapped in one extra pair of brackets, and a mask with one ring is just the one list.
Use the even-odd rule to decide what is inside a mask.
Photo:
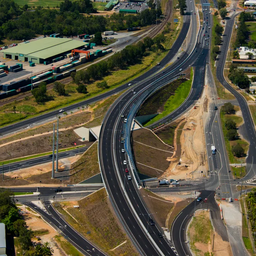
[(15, 236), (21, 245), (23, 255), (50, 256), (52, 248), (48, 242), (36, 245), (31, 242), (33, 231), (27, 228), (26, 222), (15, 204), (14, 192), (0, 188), (0, 222), (5, 224), (5, 233)]

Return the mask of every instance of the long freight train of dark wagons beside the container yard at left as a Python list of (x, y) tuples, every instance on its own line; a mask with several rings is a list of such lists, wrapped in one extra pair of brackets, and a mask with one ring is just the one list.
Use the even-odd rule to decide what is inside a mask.
[[(22, 79), (20, 81), (11, 82), (9, 85), (0, 85), (0, 89), (3, 89), (3, 91), (4, 91), (0, 94), (0, 100), (10, 97), (10, 96), (13, 96), (13, 95), (16, 95), (16, 94), (19, 94), (21, 92), (30, 91), (32, 89), (31, 88), (32, 85), (33, 85), (33, 89), (34, 89), (34, 88), (38, 87), (39, 84), (41, 84), (42, 82), (46, 82), (46, 84), (50, 84), (54, 81), (63, 79), (67, 76), (70, 76), (71, 72), (76, 72), (76, 69), (70, 69), (69, 71), (65, 71), (62, 74), (55, 75), (54, 77), (48, 77), (47, 79), (43, 79), (40, 81), (37, 80), (38, 76), (34, 76), (29, 79)], [(43, 74), (41, 74), (41, 79), (46, 78), (47, 75), (52, 75), (52, 74), (53, 74), (52, 71), (43, 73)], [(31, 84), (31, 80), (32, 80), (32, 84)]]

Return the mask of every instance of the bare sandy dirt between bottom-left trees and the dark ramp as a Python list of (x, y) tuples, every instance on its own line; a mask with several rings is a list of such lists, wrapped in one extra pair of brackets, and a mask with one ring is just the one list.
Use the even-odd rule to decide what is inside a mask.
[[(25, 207), (24, 206), (20, 206), (19, 208), (24, 210)], [(55, 243), (53, 241), (53, 237), (55, 235), (58, 235), (57, 231), (54, 230), (46, 222), (44, 222), (44, 220), (41, 217), (38, 217), (38, 214), (33, 214), (32, 212), (27, 211), (27, 209), (26, 209), (26, 213), (24, 213), (23, 216), (25, 217), (26, 224), (27, 224), (29, 229), (31, 228), (33, 231), (41, 230), (41, 229), (49, 230), (48, 234), (46, 234), (46, 235), (39, 235), (39, 237), (41, 238), (40, 241), (37, 241), (34, 238), (32, 238), (32, 241), (36, 242), (36, 243), (40, 242), (41, 244), (44, 244), (45, 242), (49, 242), (50, 243), (50, 247), (52, 247), (53, 250), (54, 250), (53, 255), (54, 256), (63, 256), (63, 254), (61, 254), (61, 252), (55, 246)]]

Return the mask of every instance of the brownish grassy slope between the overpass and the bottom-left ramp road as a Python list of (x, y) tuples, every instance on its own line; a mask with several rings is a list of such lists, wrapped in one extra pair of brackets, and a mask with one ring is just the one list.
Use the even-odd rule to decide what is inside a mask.
[[(130, 256), (139, 255), (129, 238), (119, 227), (119, 222), (113, 213), (105, 188), (78, 201), (77, 204), (79, 208), (74, 208), (69, 202), (61, 202), (61, 204), (57, 204), (57, 210), (86, 239), (97, 244), (102, 248), (102, 251), (110, 256), (127, 255), (127, 252)], [(120, 246), (117, 247), (118, 245)]]

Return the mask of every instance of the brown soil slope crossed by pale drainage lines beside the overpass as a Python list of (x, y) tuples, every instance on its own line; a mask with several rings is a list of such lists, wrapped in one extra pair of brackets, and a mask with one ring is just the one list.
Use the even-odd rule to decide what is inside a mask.
[(145, 128), (134, 130), (132, 146), (139, 172), (157, 177), (162, 175), (169, 166), (169, 161), (166, 159), (172, 156), (173, 148), (161, 142), (150, 130)]

